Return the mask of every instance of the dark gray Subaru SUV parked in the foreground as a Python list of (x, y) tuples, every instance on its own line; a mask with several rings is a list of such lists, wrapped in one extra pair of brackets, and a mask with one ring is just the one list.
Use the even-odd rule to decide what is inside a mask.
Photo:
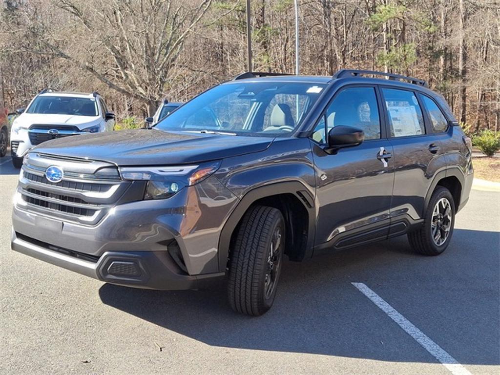
[(470, 139), (420, 79), (247, 72), (151, 129), (33, 148), (11, 246), (114, 284), (224, 285), (234, 310), (260, 315), (285, 255), (402, 234), (440, 254), (472, 175)]

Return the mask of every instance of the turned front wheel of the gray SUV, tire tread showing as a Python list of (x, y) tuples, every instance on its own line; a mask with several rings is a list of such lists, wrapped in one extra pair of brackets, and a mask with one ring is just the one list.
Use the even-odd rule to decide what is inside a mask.
[(272, 306), (276, 296), (285, 240), (283, 215), (273, 207), (253, 206), (236, 230), (227, 296), (234, 311), (259, 316)]

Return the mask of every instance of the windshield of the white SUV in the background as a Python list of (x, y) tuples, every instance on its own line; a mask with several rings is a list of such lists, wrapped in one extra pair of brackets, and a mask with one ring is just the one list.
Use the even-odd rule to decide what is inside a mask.
[(77, 116), (97, 116), (94, 98), (68, 96), (37, 96), (27, 113), (73, 114)]

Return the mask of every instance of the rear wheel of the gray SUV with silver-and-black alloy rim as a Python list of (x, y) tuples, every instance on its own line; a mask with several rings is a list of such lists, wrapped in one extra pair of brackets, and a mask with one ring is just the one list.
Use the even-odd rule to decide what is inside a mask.
[[(439, 255), (448, 247), (454, 223), (453, 196), (447, 188), (438, 186), (430, 197), (422, 227), (408, 233), (409, 243), (420, 254)], [(436, 237), (439, 238), (436, 240)]]

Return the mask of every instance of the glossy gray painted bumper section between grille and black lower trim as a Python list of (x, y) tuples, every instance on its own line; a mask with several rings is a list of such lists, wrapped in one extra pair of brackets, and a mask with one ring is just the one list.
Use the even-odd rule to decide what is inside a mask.
[(75, 222), (59, 211), (22, 203), (19, 188), (12, 209), (17, 233), (94, 257), (106, 251), (168, 251), (174, 241), (186, 273), (224, 271), (219, 269), (219, 233), (237, 199), (215, 177), (183, 188), (168, 199), (114, 205), (95, 224)]

